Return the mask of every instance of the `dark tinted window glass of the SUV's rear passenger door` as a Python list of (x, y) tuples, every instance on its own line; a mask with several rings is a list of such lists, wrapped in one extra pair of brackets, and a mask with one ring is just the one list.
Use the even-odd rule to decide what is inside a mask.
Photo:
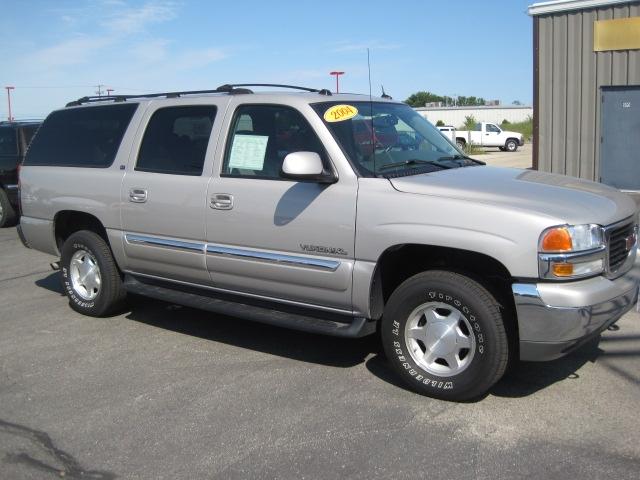
[(216, 107), (169, 107), (155, 112), (142, 139), (136, 170), (202, 175)]

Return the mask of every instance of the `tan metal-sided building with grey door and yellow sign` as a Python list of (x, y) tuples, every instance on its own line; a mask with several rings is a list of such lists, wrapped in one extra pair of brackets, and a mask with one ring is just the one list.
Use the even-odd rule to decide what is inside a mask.
[(640, 190), (640, 1), (554, 0), (533, 17), (533, 167)]

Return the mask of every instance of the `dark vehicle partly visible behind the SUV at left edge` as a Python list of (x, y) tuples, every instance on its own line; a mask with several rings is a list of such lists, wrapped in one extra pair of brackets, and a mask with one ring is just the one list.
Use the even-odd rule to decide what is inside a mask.
[(18, 219), (18, 165), (40, 121), (0, 122), (0, 228)]

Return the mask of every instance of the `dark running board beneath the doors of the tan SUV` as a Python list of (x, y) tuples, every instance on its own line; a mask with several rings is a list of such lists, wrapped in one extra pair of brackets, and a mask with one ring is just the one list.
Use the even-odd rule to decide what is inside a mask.
[[(166, 282), (163, 282), (166, 284)], [(179, 285), (166, 287), (156, 282), (125, 274), (124, 287), (128, 292), (155, 298), (169, 303), (198, 308), (222, 315), (244, 318), (260, 323), (267, 323), (278, 327), (300, 330), (302, 332), (319, 333), (334, 337), (358, 338), (370, 335), (376, 330), (376, 322), (364, 317), (350, 317), (340, 315), (341, 321), (324, 317), (337, 317), (325, 312), (313, 312), (314, 316), (298, 312), (274, 310), (260, 305), (243, 303), (220, 298), (215, 292), (199, 288), (183, 289)], [(283, 305), (284, 307), (284, 305)], [(299, 310), (299, 309), (298, 309)], [(315, 316), (318, 315), (318, 316)], [(343, 320), (343, 321), (342, 321)]]

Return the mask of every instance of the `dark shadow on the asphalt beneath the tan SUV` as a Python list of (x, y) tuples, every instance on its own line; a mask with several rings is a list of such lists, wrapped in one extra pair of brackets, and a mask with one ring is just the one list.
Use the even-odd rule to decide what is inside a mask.
[[(52, 273), (35, 283), (41, 288), (64, 294), (58, 273)], [(297, 361), (341, 368), (351, 368), (364, 363), (368, 371), (379, 379), (398, 388), (407, 389), (387, 362), (378, 335), (359, 339), (316, 335), (216, 315), (137, 295), (130, 295), (127, 309), (120, 313), (124, 313), (125, 318), (129, 320), (156, 328)], [(616, 328), (616, 325), (612, 326), (612, 329)], [(557, 382), (579, 381), (578, 371), (582, 366), (596, 362), (600, 357), (640, 357), (640, 352), (615, 353), (600, 348), (600, 342), (609, 343), (624, 339), (627, 339), (624, 335), (596, 338), (575, 352), (551, 362), (516, 362), (489, 394), (508, 398), (527, 397)], [(611, 369), (614, 368), (615, 366), (611, 366)], [(614, 373), (621, 376), (625, 374)], [(627, 380), (640, 383), (640, 379), (635, 376)]]

